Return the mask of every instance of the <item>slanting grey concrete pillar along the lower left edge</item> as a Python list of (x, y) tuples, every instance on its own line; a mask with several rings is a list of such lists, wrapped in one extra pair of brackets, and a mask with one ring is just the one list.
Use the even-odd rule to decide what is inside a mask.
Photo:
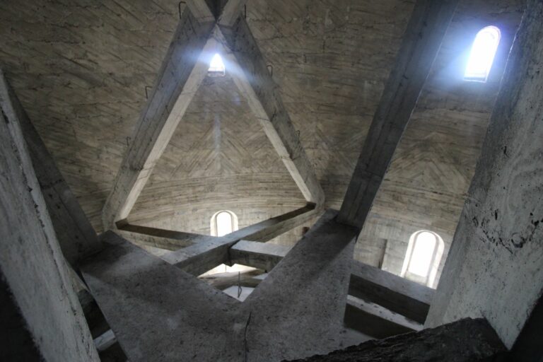
[[(9, 107), (1, 108), (0, 146), (0, 277), (10, 289), (7, 299), (23, 316), (19, 327), (26, 325), (45, 361), (98, 362), (20, 124)], [(18, 342), (18, 348), (28, 349), (28, 339), (13, 343)]]

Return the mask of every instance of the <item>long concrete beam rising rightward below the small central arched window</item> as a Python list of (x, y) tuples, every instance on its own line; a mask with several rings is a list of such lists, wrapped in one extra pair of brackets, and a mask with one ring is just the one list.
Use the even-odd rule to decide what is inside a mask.
[(169, 252), (161, 258), (190, 274), (199, 275), (217, 265), (228, 263), (230, 261), (228, 249), (238, 241), (250, 239), (265, 242), (271, 240), (277, 235), (302, 225), (320, 212), (322, 211), (315, 209), (313, 205), (305, 206), (220, 238), (209, 237), (206, 241), (185, 247), (182, 250)]

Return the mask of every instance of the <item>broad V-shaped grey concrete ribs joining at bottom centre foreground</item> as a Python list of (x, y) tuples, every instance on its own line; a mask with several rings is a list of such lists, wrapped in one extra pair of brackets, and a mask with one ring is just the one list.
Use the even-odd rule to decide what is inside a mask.
[(339, 348), (356, 228), (325, 216), (245, 303), (111, 231), (83, 278), (136, 361), (281, 361)]

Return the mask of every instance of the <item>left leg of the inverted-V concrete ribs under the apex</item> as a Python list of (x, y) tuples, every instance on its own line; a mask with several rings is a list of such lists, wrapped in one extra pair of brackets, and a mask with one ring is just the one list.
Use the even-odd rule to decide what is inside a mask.
[[(210, 39), (214, 23), (200, 23), (183, 11), (153, 91), (102, 213), (105, 230), (127, 218), (148, 177), (168, 145), (177, 124), (204, 80), (216, 47)], [(208, 59), (209, 58), (209, 59)]]

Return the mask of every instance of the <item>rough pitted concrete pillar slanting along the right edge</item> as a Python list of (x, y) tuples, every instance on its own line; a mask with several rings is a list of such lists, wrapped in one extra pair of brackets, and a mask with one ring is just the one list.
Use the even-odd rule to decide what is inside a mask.
[(543, 288), (543, 3), (528, 1), (428, 327), (484, 316), (513, 345)]

